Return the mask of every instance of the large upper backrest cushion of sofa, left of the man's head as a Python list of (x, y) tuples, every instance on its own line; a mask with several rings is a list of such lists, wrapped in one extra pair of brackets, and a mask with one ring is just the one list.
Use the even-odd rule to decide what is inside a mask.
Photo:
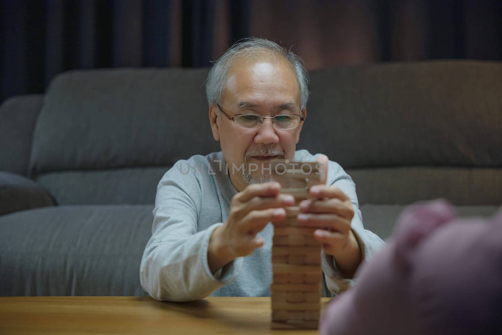
[(50, 84), (31, 173), (167, 166), (219, 150), (204, 94), (207, 69), (70, 71)]

